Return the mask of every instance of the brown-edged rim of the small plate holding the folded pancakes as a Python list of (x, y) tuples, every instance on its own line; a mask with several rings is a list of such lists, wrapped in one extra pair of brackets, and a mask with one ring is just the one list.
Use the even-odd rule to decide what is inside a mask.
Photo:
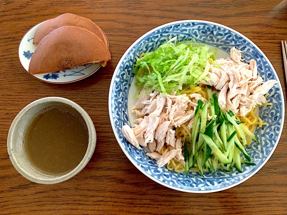
[[(57, 17), (57, 16), (52, 17), (52, 18), (49, 18), (49, 19), (54, 19), (54, 18), (56, 18), (56, 17)], [(19, 42), (19, 45), (18, 45), (18, 60), (19, 60), (19, 62), (20, 62), (20, 64), (21, 64), (21, 66), (23, 67), (23, 69), (24, 69), (30, 76), (32, 76), (33, 78), (38, 79), (38, 80), (40, 80), (40, 81), (42, 81), (42, 82), (47, 82), (47, 83), (51, 83), (51, 84), (68, 84), (68, 83), (80, 81), (80, 80), (82, 80), (82, 79), (84, 79), (84, 78), (87, 78), (88, 76), (91, 76), (91, 75), (94, 74), (95, 72), (97, 72), (97, 70), (99, 70), (99, 69), (102, 67), (101, 64), (100, 64), (100, 66), (99, 66), (97, 69), (95, 69), (93, 72), (91, 72), (91, 73), (89, 73), (88, 75), (86, 75), (86, 76), (84, 76), (84, 77), (81, 77), (81, 78), (79, 78), (79, 79), (72, 80), (72, 81), (67, 81), (67, 82), (51, 82), (51, 81), (48, 81), (48, 80), (40, 79), (40, 78), (38, 78), (38, 77), (36, 77), (36, 76), (30, 74), (30, 73), (28, 72), (28, 70), (25, 69), (25, 67), (23, 66), (23, 64), (22, 64), (22, 62), (21, 62), (21, 60), (20, 60), (20, 52), (19, 52), (20, 44), (21, 44), (23, 38), (25, 37), (25, 35), (26, 35), (30, 30), (32, 30), (36, 25), (41, 24), (42, 22), (48, 21), (49, 19), (45, 19), (45, 20), (40, 21), (39, 23), (33, 25), (33, 26), (30, 27), (30, 29), (29, 29), (28, 31), (26, 31), (26, 33), (22, 36), (22, 38), (21, 38), (21, 40), (20, 40), (20, 42)], [(99, 27), (99, 26), (98, 26), (98, 27)], [(99, 28), (100, 28), (100, 27), (99, 27)], [(103, 32), (103, 34), (104, 34), (104, 36), (105, 36), (106, 42), (107, 42), (107, 44), (108, 44), (108, 50), (109, 50), (109, 40), (108, 40), (108, 37), (106, 36), (105, 32), (104, 32), (101, 28), (100, 28), (100, 30)], [(44, 73), (44, 74), (45, 74), (45, 73)]]

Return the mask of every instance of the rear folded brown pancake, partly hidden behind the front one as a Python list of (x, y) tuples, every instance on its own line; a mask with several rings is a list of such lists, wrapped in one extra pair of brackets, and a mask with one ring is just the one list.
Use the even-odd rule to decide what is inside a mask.
[(62, 26), (78, 26), (85, 28), (96, 34), (106, 46), (108, 46), (103, 31), (93, 21), (74, 13), (64, 13), (42, 24), (36, 31), (33, 44), (38, 45), (39, 42), (53, 30)]

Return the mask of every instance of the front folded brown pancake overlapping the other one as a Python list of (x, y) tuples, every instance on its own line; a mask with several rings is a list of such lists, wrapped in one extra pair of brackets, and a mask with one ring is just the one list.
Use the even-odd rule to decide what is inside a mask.
[(77, 26), (62, 26), (45, 36), (31, 57), (28, 72), (54, 73), (111, 59), (100, 38)]

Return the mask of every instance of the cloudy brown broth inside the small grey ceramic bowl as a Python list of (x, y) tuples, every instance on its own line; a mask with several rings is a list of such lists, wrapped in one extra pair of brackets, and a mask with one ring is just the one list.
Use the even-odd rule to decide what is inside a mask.
[(67, 105), (51, 105), (39, 111), (23, 137), (22, 149), (31, 167), (51, 176), (74, 169), (88, 148), (86, 122)]

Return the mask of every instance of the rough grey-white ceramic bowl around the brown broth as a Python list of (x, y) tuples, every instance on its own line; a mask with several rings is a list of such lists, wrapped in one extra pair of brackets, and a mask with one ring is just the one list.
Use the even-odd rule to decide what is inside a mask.
[[(57, 104), (69, 105), (75, 108), (83, 116), (88, 128), (89, 142), (86, 154), (76, 168), (61, 176), (47, 176), (37, 172), (28, 164), (25, 153), (22, 151), (22, 133), (26, 125), (29, 125), (31, 118), (35, 116), (39, 110), (42, 110), (42, 108), (49, 105)], [(39, 184), (56, 184), (75, 176), (87, 165), (94, 153), (95, 147), (96, 130), (88, 113), (77, 103), (61, 97), (46, 97), (38, 99), (23, 108), (13, 120), (7, 139), (8, 154), (15, 169), (26, 179)]]

